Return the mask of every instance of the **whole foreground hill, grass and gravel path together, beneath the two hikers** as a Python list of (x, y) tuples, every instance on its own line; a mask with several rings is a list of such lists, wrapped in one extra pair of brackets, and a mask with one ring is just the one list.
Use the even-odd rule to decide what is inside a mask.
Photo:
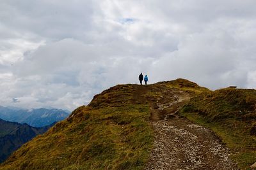
[[(116, 85), (23, 145), (0, 167), (238, 169), (238, 164), (246, 169), (255, 161), (255, 116), (253, 108), (245, 106), (252, 106), (255, 96), (255, 90), (212, 92), (184, 79), (147, 86)], [(239, 107), (243, 114), (238, 114)], [(232, 115), (235, 110), (238, 112)], [(230, 131), (232, 124), (236, 124), (234, 132)], [(215, 129), (219, 137), (203, 125)], [(244, 146), (236, 141), (240, 131), (246, 138)]]

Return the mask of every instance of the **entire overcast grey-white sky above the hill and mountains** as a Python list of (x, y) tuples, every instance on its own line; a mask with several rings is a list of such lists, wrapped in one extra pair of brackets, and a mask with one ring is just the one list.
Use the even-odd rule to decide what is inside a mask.
[(0, 105), (73, 110), (120, 83), (256, 87), (255, 0), (1, 0)]

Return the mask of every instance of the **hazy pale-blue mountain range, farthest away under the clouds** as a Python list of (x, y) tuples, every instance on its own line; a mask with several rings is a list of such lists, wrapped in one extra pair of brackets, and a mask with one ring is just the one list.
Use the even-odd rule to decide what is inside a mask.
[(33, 127), (44, 127), (53, 122), (59, 122), (68, 117), (69, 111), (61, 109), (31, 109), (11, 108), (0, 106), (0, 118), (10, 122), (28, 124)]

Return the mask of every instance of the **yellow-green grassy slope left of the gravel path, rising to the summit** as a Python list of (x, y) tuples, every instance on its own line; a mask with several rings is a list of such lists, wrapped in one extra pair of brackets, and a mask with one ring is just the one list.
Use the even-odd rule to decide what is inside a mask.
[(195, 83), (178, 79), (155, 85), (117, 85), (93, 97), (66, 120), (38, 136), (0, 166), (1, 169), (143, 169), (153, 143), (148, 120), (156, 100)]

